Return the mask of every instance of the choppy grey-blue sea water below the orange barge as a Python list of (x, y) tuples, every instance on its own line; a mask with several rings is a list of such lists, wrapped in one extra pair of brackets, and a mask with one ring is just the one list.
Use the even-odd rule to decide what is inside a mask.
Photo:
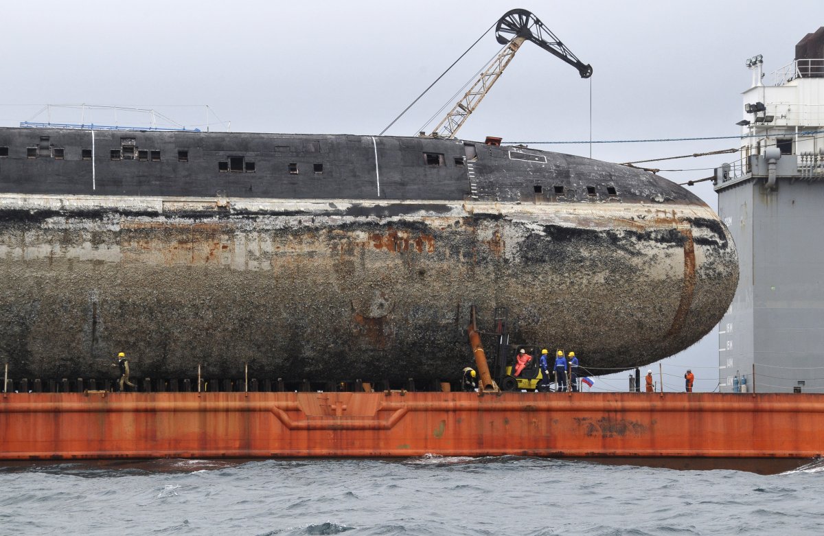
[(0, 467), (0, 534), (824, 534), (824, 463), (530, 458)]

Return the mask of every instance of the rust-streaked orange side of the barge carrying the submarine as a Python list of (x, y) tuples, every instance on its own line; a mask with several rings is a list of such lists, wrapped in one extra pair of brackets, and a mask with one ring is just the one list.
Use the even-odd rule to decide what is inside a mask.
[(812, 458), (824, 394), (0, 396), (0, 459)]

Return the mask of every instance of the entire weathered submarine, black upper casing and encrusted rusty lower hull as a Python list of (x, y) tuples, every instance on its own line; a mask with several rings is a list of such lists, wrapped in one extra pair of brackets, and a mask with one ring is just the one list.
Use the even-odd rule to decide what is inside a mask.
[[(40, 135), (49, 156), (16, 150)], [(15, 377), (101, 375), (123, 350), (141, 376), (445, 380), (471, 363), (471, 305), (481, 329), (507, 306), (513, 340), (639, 366), (709, 332), (737, 284), (714, 212), (618, 165), (454, 140), (96, 133), (92, 189), (89, 137), (0, 129)], [(116, 137), (162, 160), (112, 161)], [(238, 155), (254, 173), (218, 171)]]

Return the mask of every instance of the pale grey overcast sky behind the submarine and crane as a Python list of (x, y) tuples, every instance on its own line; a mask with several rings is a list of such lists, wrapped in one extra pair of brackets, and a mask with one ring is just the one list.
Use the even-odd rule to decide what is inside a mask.
[[(377, 134), (515, 7), (535, 13), (592, 64), (592, 79), (527, 43), (459, 137), (580, 141), (590, 139), (590, 124), (593, 140), (734, 136), (751, 80), (745, 60), (763, 54), (770, 82), (770, 72), (794, 59), (798, 40), (824, 25), (822, 0), (7, 2), (0, 126), (79, 123), (79, 110), (38, 111), (86, 103), (153, 108), (204, 128), (208, 105), (211, 128), (231, 122), (234, 132)], [(417, 133), (499, 48), (489, 32), (387, 134)], [(103, 112), (83, 119), (114, 120)], [(148, 122), (124, 112), (117, 120)], [(588, 144), (531, 147), (590, 155)], [(592, 157), (625, 162), (731, 147), (738, 140), (597, 143)], [(649, 166), (690, 170), (660, 173), (685, 182), (728, 160)], [(709, 183), (694, 191), (717, 207)], [(662, 361), (666, 388), (683, 389), (691, 366), (696, 390), (714, 389), (717, 341), (710, 333)], [(658, 365), (651, 368), (657, 376)], [(626, 373), (619, 376), (596, 387), (625, 389)]]

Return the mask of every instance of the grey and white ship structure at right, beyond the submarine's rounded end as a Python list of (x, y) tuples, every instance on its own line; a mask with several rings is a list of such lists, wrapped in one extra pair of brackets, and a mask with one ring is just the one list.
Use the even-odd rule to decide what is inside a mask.
[[(740, 158), (715, 170), (741, 277), (719, 324), (721, 390), (824, 391), (824, 27), (764, 77), (747, 60)], [(762, 81), (767, 82), (765, 85)]]

